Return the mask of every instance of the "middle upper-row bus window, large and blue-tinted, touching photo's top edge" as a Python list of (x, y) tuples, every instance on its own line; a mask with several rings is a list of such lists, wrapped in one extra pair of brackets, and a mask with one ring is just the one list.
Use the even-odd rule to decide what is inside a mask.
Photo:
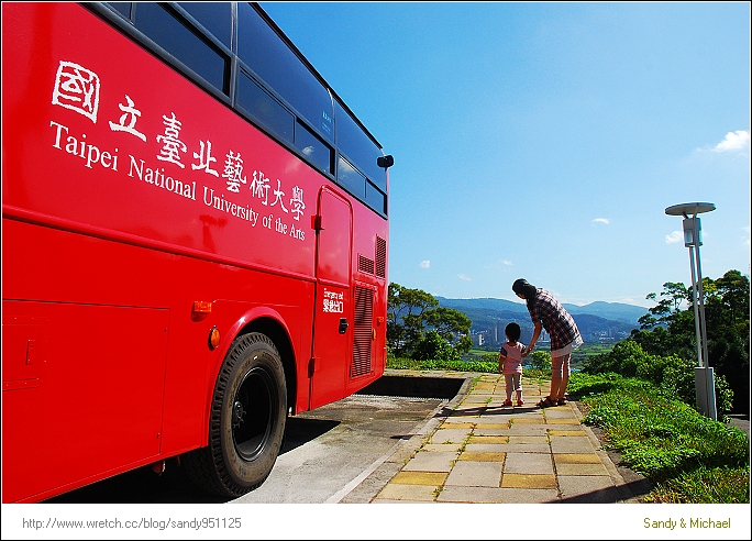
[(237, 57), (325, 141), (333, 142), (332, 99), (287, 44), (247, 3), (237, 3)]

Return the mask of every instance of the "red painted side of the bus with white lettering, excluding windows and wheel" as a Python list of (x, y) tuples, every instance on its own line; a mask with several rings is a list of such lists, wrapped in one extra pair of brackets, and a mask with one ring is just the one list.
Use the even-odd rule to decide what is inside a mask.
[[(381, 375), (387, 220), (80, 5), (2, 16), (3, 501), (206, 445), (248, 329), (278, 329), (292, 413)], [(317, 269), (341, 249), (319, 245), (322, 189), (350, 209), (334, 279)], [(314, 347), (314, 320), (339, 324), (327, 299), (350, 301), (350, 327)], [(358, 310), (373, 339), (353, 372)]]

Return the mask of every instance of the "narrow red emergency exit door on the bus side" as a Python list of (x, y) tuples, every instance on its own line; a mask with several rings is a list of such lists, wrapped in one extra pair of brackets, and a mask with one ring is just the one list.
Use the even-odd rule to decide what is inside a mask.
[(309, 366), (309, 408), (344, 396), (352, 344), (352, 229), (350, 203), (322, 188), (316, 217), (317, 284), (313, 316), (313, 356)]

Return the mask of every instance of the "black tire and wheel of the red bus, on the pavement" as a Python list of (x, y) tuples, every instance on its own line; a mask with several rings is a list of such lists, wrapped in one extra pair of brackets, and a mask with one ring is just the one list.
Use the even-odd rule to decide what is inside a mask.
[(190, 479), (233, 498), (257, 488), (272, 473), (286, 420), (285, 371), (274, 342), (257, 332), (239, 336), (214, 386), (209, 445), (186, 455)]

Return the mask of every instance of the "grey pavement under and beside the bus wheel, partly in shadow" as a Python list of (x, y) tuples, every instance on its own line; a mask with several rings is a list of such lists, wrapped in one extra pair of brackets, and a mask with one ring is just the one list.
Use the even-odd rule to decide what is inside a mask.
[(446, 401), (353, 395), (289, 418), (285, 445), (272, 474), (259, 488), (234, 500), (193, 487), (177, 462), (169, 460), (161, 476), (147, 467), (139, 468), (47, 503), (338, 503)]

